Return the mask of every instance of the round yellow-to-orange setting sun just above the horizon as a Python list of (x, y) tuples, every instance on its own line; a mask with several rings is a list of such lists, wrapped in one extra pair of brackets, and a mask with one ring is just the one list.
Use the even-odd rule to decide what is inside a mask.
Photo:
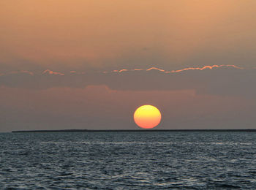
[(133, 115), (135, 123), (143, 129), (151, 129), (161, 121), (161, 113), (153, 105), (143, 105), (135, 110)]

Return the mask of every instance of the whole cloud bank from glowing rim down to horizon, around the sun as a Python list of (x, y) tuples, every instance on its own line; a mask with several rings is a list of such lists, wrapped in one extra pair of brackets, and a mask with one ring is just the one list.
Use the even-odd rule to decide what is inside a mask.
[(195, 68), (5, 73), (1, 130), (137, 129), (131, 117), (140, 104), (159, 107), (162, 129), (253, 128), (256, 69)]

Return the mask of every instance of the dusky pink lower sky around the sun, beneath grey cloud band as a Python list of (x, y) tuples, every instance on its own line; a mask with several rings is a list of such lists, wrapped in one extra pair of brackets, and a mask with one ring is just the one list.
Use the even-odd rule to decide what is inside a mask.
[(255, 121), (255, 102), (193, 91), (113, 91), (105, 86), (0, 91), (1, 131), (138, 129), (133, 113), (142, 104), (161, 110), (157, 129), (248, 129)]

